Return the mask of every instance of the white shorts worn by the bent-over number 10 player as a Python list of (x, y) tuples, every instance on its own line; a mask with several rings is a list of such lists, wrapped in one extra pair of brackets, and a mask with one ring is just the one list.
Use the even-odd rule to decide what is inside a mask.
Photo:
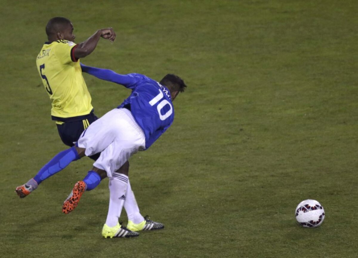
[(115, 108), (91, 123), (77, 143), (86, 149), (86, 156), (101, 152), (93, 166), (111, 177), (133, 154), (145, 149), (145, 136), (128, 109)]

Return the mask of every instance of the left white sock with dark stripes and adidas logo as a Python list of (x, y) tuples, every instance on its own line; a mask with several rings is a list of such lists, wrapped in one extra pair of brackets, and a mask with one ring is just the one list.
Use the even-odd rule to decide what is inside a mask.
[(109, 179), (110, 204), (106, 220), (108, 227), (114, 227), (118, 224), (118, 218), (121, 216), (124, 200), (126, 199), (127, 184), (128, 176), (124, 174), (113, 173)]

